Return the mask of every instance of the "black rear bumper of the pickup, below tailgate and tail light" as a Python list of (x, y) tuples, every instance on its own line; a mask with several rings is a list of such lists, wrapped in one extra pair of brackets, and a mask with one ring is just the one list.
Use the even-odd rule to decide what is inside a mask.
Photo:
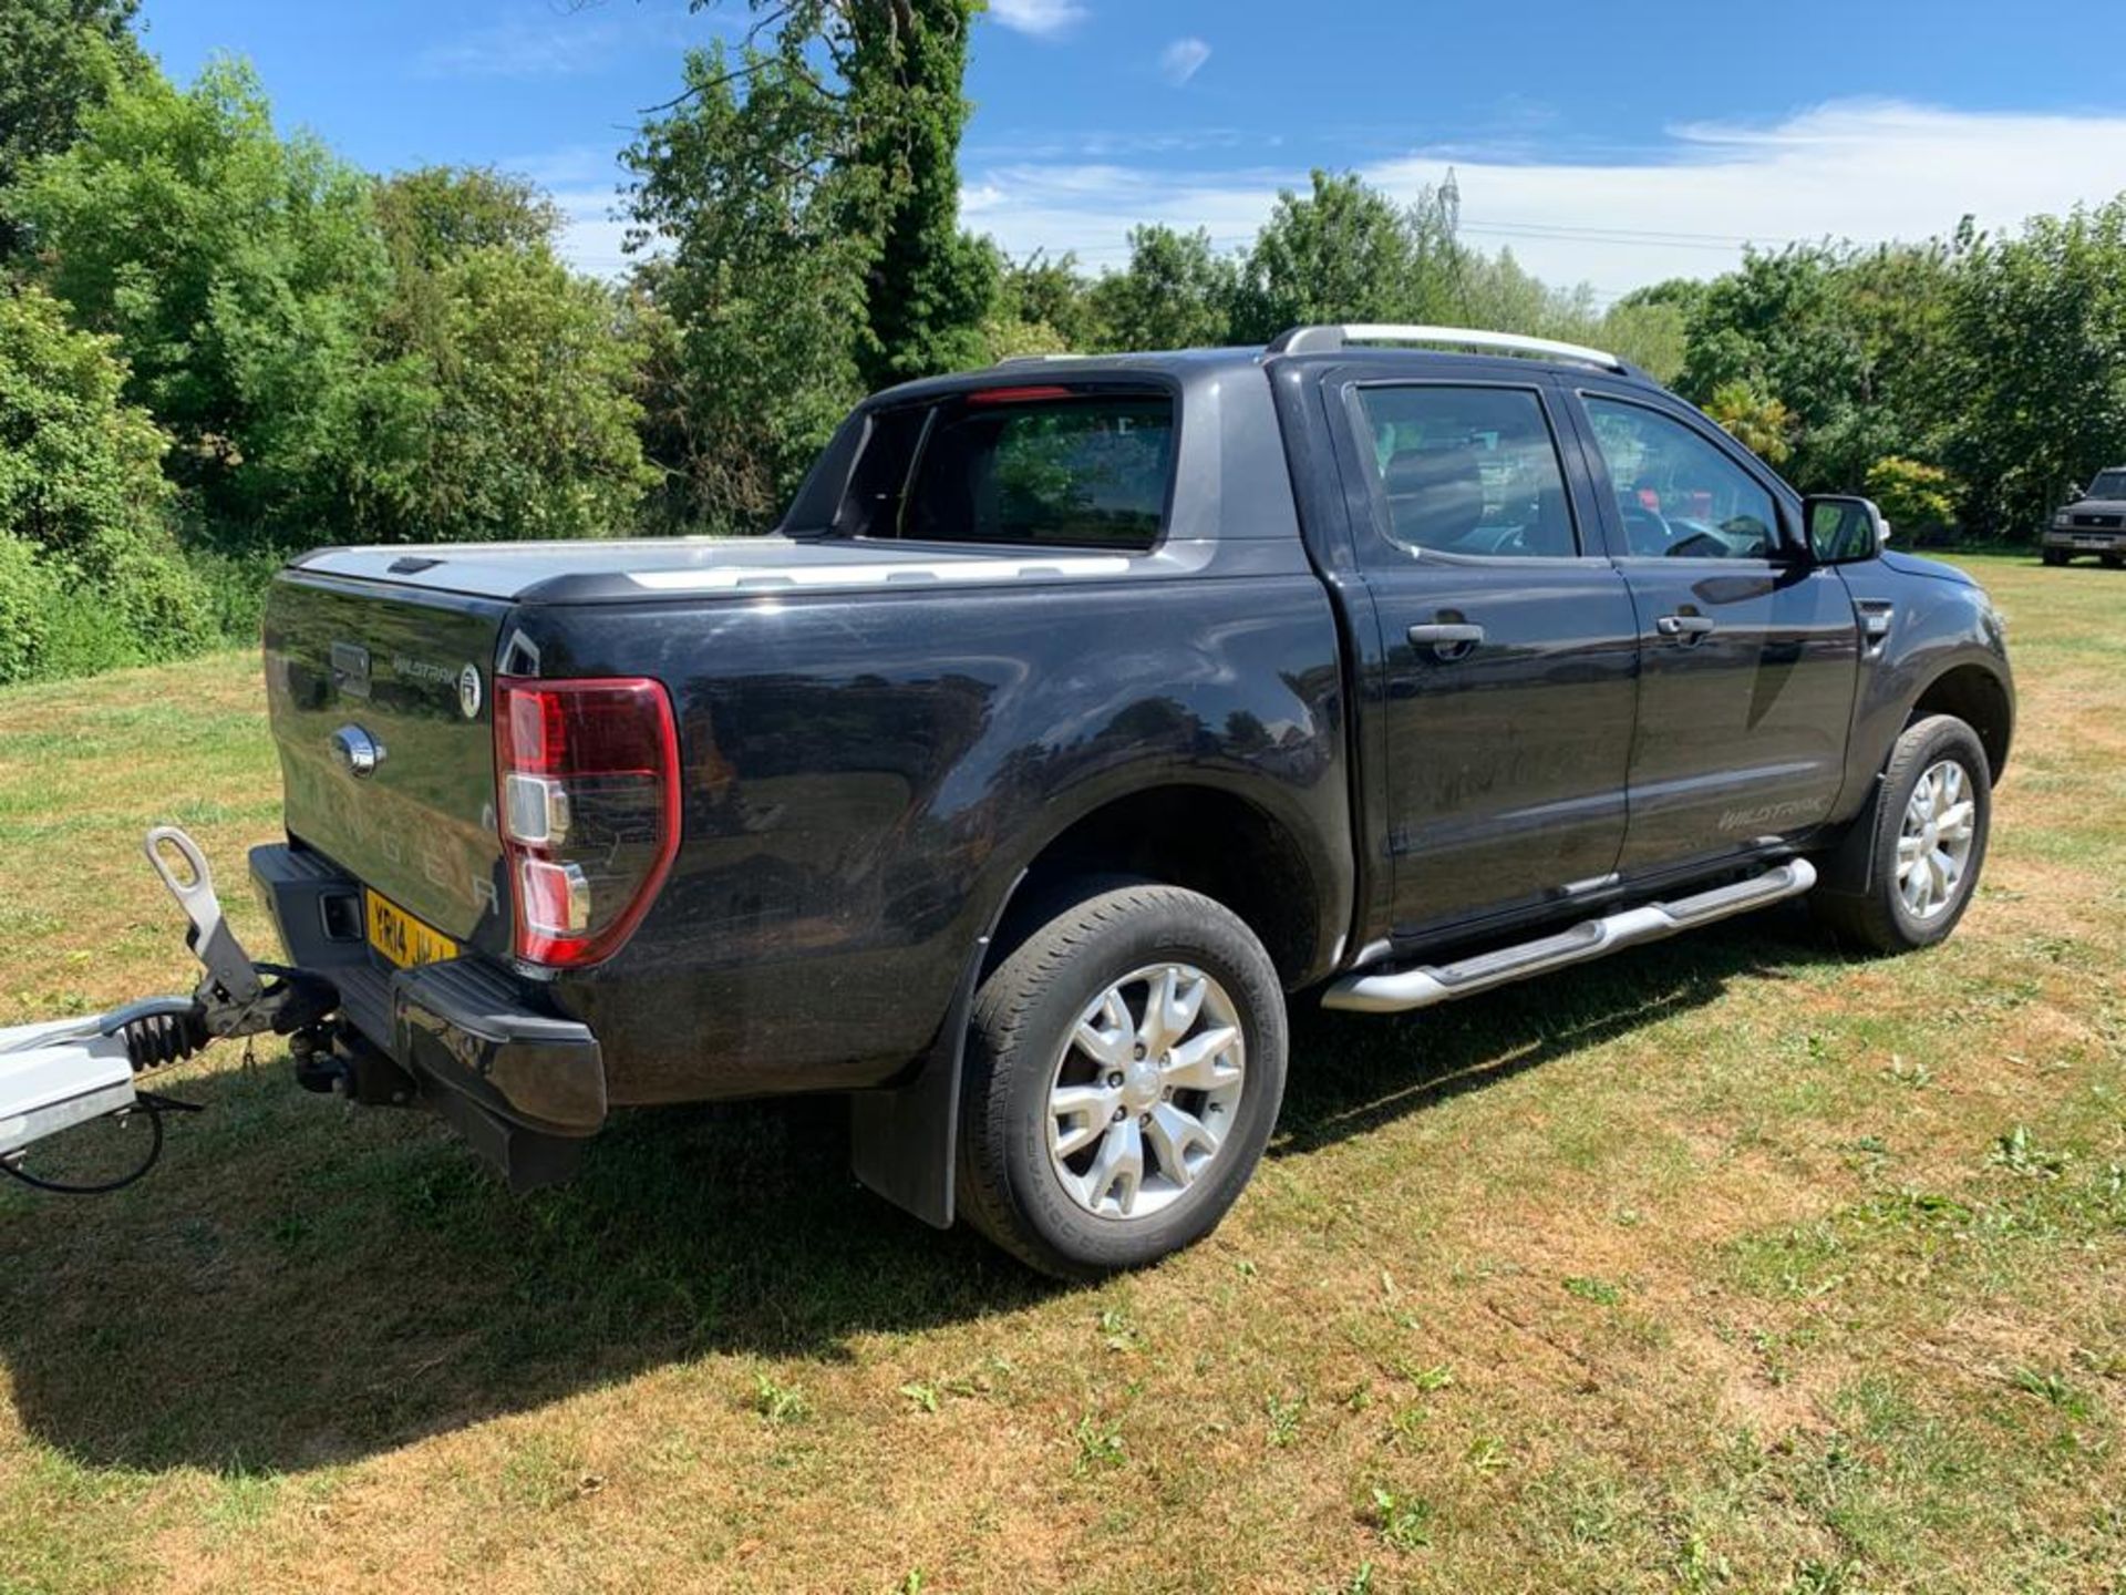
[(393, 970), (361, 934), (361, 883), (319, 853), (251, 849), (251, 880), (296, 968), (340, 991), (340, 1017), (419, 1080), (483, 1153), (510, 1163), (519, 1131), (589, 1136), (606, 1068), (589, 1025), (480, 957)]

